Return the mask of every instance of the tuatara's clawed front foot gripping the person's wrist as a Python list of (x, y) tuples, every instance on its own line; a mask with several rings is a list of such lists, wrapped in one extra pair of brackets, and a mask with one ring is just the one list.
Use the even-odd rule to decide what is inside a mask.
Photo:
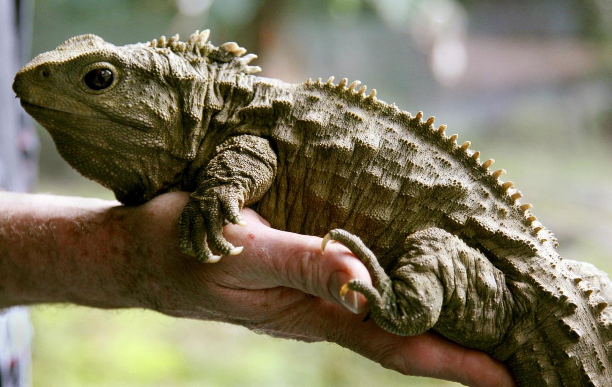
[(242, 252), (242, 246), (234, 247), (223, 237), (223, 224), (245, 226), (239, 211), (242, 207), (242, 193), (232, 185), (214, 186), (191, 194), (179, 218), (182, 252), (195, 256), (201, 262), (217, 262), (221, 255), (215, 255), (209, 243), (222, 255), (234, 256)]

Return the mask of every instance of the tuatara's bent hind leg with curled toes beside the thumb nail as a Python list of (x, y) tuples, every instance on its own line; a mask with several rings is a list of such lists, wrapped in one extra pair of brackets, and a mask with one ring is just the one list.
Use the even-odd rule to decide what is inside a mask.
[(347, 246), (368, 268), (373, 284), (353, 279), (340, 290), (362, 293), (370, 315), (387, 331), (412, 336), (435, 329), (472, 348), (493, 350), (512, 321), (512, 294), (504, 273), (481, 252), (445, 230), (409, 235), (386, 273), (353, 234), (332, 230), (323, 240)]

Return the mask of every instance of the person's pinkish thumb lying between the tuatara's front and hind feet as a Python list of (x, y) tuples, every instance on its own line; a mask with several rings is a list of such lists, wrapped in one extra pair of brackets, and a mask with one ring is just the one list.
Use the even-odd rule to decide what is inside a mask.
[(354, 313), (367, 309), (367, 301), (360, 293), (351, 290), (340, 297), (341, 286), (351, 279), (371, 283), (365, 265), (348, 248), (329, 243), (322, 252), (322, 238), (272, 229), (249, 208), (244, 208), (241, 215), (247, 227), (228, 225), (224, 235), (234, 246), (244, 246), (244, 250), (239, 256), (224, 257), (217, 265), (239, 260), (241, 274), (235, 279), (242, 288), (291, 287), (339, 303)]

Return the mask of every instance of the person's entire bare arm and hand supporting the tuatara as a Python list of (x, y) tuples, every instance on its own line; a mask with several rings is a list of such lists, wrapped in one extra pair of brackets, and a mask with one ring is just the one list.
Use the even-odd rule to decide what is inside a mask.
[[(512, 385), (507, 369), (484, 353), (435, 334), (395, 336), (340, 306), (340, 286), (369, 276), (339, 243), (323, 256), (321, 238), (271, 229), (243, 210), (248, 227), (224, 229), (228, 240), (245, 246), (242, 254), (216, 264), (185, 256), (177, 247), (176, 219), (187, 201), (185, 193), (170, 193), (121, 207), (0, 193), (0, 307), (149, 308), (275, 337), (336, 342), (403, 374)], [(355, 300), (349, 307), (364, 309), (365, 300)]]

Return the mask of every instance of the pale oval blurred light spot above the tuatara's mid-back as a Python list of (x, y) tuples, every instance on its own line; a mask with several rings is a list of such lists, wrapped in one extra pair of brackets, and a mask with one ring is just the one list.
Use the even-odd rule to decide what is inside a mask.
[(454, 86), (465, 73), (468, 53), (462, 39), (439, 39), (431, 50), (431, 72), (442, 86)]

